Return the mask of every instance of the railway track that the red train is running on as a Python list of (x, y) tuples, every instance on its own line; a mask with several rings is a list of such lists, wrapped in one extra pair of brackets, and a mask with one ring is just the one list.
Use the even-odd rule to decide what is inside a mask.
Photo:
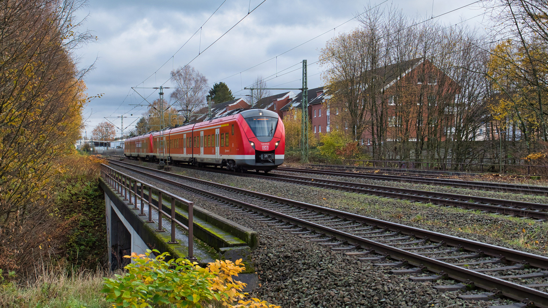
[[(207, 168), (207, 170), (234, 174), (228, 170), (220, 168)], [(321, 178), (311, 178), (302, 175), (287, 175), (278, 173), (270, 175), (260, 175), (257, 173), (238, 174), (266, 180), (290, 182), (297, 185), (322, 187), (326, 189), (363, 193), (388, 198), (407, 199), (415, 202), (482, 210), (484, 212), (521, 216), (536, 220), (548, 219), (548, 204), (458, 195), (455, 193), (446, 192), (413, 190), (392, 186), (369, 185), (356, 182), (335, 181)]]

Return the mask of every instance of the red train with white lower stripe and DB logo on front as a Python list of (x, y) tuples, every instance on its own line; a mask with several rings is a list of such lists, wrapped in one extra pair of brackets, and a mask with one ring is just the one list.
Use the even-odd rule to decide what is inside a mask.
[(286, 133), (276, 112), (239, 109), (204, 122), (128, 138), (124, 155), (266, 173), (283, 163), (285, 143)]

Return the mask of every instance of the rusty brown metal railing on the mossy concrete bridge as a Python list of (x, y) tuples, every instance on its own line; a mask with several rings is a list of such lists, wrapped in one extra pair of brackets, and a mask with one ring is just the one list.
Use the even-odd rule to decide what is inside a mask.
[[(194, 236), (193, 236), (193, 206), (194, 202), (189, 201), (185, 198), (181, 198), (178, 196), (173, 195), (172, 193), (169, 193), (168, 191), (165, 191), (163, 189), (160, 189), (156, 186), (150, 185), (144, 181), (141, 181), (139, 179), (134, 178), (133, 176), (127, 175), (123, 172), (119, 172), (116, 169), (113, 169), (109, 166), (106, 166), (105, 164), (101, 164), (101, 178), (105, 180), (105, 182), (112, 187), (112, 189), (118, 193), (121, 197), (124, 197), (124, 201), (128, 201), (128, 205), (133, 205), (134, 210), (139, 210), (139, 216), (146, 216), (148, 215), (149, 218), (146, 220), (146, 223), (156, 223), (152, 219), (152, 208), (155, 208), (158, 212), (158, 229), (155, 231), (157, 232), (165, 232), (162, 228), (162, 217), (165, 216), (169, 220), (171, 220), (171, 241), (169, 241), (169, 244), (178, 244), (179, 242), (175, 239), (175, 225), (179, 225), (183, 229), (185, 229), (189, 233), (189, 260), (196, 260), (196, 258), (193, 257), (193, 243), (194, 243)], [(132, 187), (133, 185), (133, 187)], [(145, 187), (148, 190), (147, 197), (145, 198)], [(152, 204), (152, 191), (155, 190), (158, 194), (158, 206), (155, 206)], [(133, 197), (132, 197), (133, 195)], [(168, 214), (162, 209), (162, 199), (163, 196), (168, 196), (171, 198), (171, 213)], [(133, 198), (133, 202), (132, 202)], [(138, 201), (141, 205), (141, 207), (138, 207)], [(185, 225), (181, 223), (179, 220), (175, 219), (175, 202), (178, 201), (182, 204), (186, 204), (186, 206), (189, 207), (189, 223), (188, 225)], [(145, 214), (145, 203), (149, 207), (149, 213)]]

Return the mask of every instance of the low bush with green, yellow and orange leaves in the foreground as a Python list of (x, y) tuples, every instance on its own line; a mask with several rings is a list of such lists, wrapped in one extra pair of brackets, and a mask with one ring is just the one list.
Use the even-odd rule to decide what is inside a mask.
[[(151, 258), (151, 254), (158, 254)], [(145, 254), (126, 255), (133, 263), (124, 267), (124, 275), (105, 278), (103, 293), (113, 307), (202, 307), (204, 304), (220, 302), (226, 307), (278, 308), (256, 298), (247, 300), (241, 293), (246, 283), (235, 281), (246, 269), (242, 259), (215, 260), (207, 267), (187, 259), (170, 259), (169, 253), (148, 250)]]

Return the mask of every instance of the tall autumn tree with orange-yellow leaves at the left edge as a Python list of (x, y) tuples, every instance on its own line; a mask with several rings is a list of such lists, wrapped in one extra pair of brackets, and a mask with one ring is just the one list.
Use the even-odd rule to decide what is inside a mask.
[(87, 101), (73, 55), (92, 38), (77, 30), (82, 4), (0, 3), (0, 268), (17, 270), (55, 251), (62, 226), (49, 215), (51, 188), (59, 159), (75, 151)]

